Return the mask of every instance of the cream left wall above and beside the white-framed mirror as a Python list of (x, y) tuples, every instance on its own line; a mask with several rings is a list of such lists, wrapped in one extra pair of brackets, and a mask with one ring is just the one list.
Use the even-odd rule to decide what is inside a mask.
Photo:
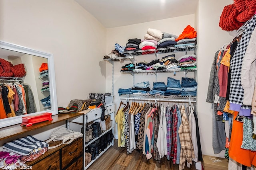
[(0, 40), (53, 54), (59, 107), (105, 92), (106, 29), (74, 0), (0, 0)]

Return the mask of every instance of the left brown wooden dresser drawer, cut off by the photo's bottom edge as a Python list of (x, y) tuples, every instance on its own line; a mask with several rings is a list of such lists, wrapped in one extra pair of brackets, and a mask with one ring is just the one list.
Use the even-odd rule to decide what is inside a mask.
[(32, 170), (59, 170), (60, 151), (54, 152), (50, 156), (32, 165)]

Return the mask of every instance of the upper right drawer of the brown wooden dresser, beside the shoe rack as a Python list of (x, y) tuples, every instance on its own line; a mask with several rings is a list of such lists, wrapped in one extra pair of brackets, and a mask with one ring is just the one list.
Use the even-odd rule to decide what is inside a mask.
[(83, 154), (83, 138), (70, 143), (61, 149), (62, 152), (62, 168), (65, 168), (70, 162)]

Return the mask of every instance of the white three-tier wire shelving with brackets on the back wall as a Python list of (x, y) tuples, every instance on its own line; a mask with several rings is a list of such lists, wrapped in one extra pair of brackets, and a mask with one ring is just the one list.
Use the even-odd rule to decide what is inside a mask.
[[(104, 59), (112, 64), (112, 94), (114, 94), (114, 62), (116, 61), (131, 61), (136, 63), (137, 57), (143, 57), (145, 55), (155, 55), (156, 59), (159, 54), (173, 54), (173, 53), (184, 53), (185, 55), (188, 51), (194, 51), (196, 53), (197, 45), (186, 45), (179, 47), (168, 47), (161, 49), (149, 49), (149, 50), (137, 50), (137, 51), (124, 51), (122, 54), (126, 57), (117, 57), (115, 59)], [(195, 72), (197, 68), (179, 68), (179, 69), (164, 69), (164, 70), (132, 70), (132, 71), (121, 71), (121, 73), (129, 73), (133, 76), (133, 86), (134, 86), (134, 77), (136, 74), (155, 74), (155, 81), (157, 82), (158, 73), (168, 73), (173, 72), (176, 75), (176, 72), (184, 72), (184, 75), (188, 72)], [(120, 96), (120, 100), (144, 100), (144, 101), (159, 101), (159, 102), (187, 102), (187, 103), (196, 103), (196, 96), (161, 96), (161, 95), (138, 95), (138, 94), (124, 94)]]

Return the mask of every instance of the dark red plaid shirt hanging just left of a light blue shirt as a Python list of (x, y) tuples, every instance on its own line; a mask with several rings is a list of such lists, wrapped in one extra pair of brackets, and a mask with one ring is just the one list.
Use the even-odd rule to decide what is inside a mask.
[(176, 164), (177, 159), (177, 125), (178, 125), (178, 115), (176, 105), (173, 106), (172, 114), (172, 162)]

